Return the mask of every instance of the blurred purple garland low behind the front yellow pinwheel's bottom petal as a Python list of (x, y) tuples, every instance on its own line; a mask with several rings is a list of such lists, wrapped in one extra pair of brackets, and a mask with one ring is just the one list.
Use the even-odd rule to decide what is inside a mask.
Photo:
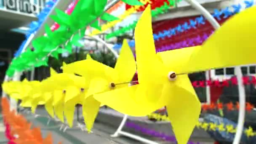
[[(164, 139), (165, 141), (177, 142), (175, 139), (175, 136), (168, 136), (165, 133), (161, 133), (161, 132), (149, 129), (149, 128), (144, 128), (139, 125), (136, 125), (135, 123), (126, 122), (125, 126), (127, 126), (128, 128), (133, 128), (136, 131), (140, 131), (141, 133), (147, 134), (149, 136)], [(188, 144), (195, 144), (195, 143), (193, 141), (189, 141)], [(197, 142), (197, 144), (200, 144), (200, 143)]]

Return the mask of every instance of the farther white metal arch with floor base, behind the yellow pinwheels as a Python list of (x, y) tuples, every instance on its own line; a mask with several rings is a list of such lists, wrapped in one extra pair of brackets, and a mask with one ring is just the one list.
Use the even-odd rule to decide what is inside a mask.
[[(112, 48), (112, 46), (110, 46), (108, 43), (106, 43), (104, 40), (102, 40), (100, 37), (98, 36), (90, 36), (92, 38), (94, 38), (95, 40), (98, 40), (100, 43), (104, 44), (115, 56), (116, 59), (118, 59), (119, 55), (118, 53)], [(123, 129), (123, 126), (125, 125), (125, 122), (128, 118), (128, 115), (124, 115), (123, 116), (123, 120), (122, 122), (120, 123), (119, 127), (117, 128), (117, 130), (115, 131), (114, 134), (112, 134), (111, 136), (112, 137), (117, 137), (119, 134), (123, 135), (123, 136), (127, 136), (127, 137), (130, 137), (132, 139), (136, 139), (138, 141), (141, 141), (141, 142), (144, 142), (145, 144), (159, 144), (155, 141), (151, 141), (151, 140), (148, 140), (148, 139), (145, 139), (145, 138), (142, 138), (140, 136), (136, 136), (134, 134), (131, 134), (131, 133), (128, 133), (128, 132), (125, 132), (125, 131), (122, 131)]]

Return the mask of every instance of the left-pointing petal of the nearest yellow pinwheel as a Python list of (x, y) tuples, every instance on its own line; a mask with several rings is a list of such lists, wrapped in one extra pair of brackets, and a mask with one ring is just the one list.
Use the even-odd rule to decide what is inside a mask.
[(146, 116), (156, 109), (135, 102), (134, 94), (137, 86), (138, 85), (133, 85), (131, 87), (119, 88), (114, 91), (95, 94), (93, 97), (102, 104), (106, 104), (108, 107), (123, 114), (137, 117)]

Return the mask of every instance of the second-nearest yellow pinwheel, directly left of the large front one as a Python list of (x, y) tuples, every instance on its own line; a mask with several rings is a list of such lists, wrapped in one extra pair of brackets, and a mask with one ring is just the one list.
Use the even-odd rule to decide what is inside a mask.
[[(120, 57), (117, 59), (114, 69), (94, 61), (89, 56), (86, 60), (77, 61), (63, 67), (63, 72), (76, 73), (85, 77), (88, 92), (83, 100), (83, 116), (89, 132), (93, 127), (94, 120), (101, 105), (99, 101), (93, 98), (93, 95), (95, 93), (127, 87), (127, 82), (131, 81), (135, 71), (136, 63), (126, 40), (123, 42)], [(121, 84), (124, 82), (126, 85)]]

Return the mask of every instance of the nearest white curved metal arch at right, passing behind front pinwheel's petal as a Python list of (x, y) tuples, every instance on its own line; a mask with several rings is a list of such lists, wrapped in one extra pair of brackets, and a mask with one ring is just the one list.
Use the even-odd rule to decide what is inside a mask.
[[(187, 3), (192, 5), (197, 11), (200, 11), (205, 19), (207, 19), (210, 24), (214, 27), (214, 29), (219, 29), (220, 25), (216, 21), (216, 19), (211, 16), (211, 13), (209, 13), (205, 8), (203, 8), (202, 5), (200, 5), (196, 0), (186, 0)], [(238, 82), (238, 93), (239, 93), (239, 117), (238, 117), (238, 123), (237, 123), (237, 132), (235, 134), (235, 139), (233, 141), (233, 144), (239, 144), (241, 136), (243, 134), (243, 125), (244, 125), (244, 119), (245, 119), (245, 89), (243, 88), (243, 82), (242, 82), (242, 72), (240, 67), (235, 67), (235, 73), (237, 75), (237, 82)]]

